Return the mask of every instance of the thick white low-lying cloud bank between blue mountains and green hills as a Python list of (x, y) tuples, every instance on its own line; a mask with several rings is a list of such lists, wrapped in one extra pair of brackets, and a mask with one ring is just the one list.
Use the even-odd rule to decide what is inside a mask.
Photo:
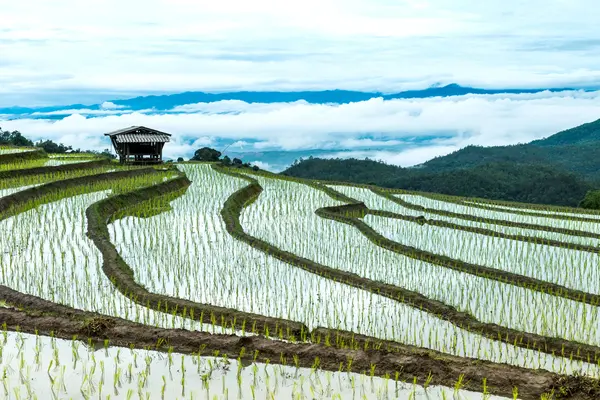
[(599, 119), (600, 91), (377, 98), (342, 105), (223, 101), (178, 107), (184, 113), (102, 115), (117, 111), (123, 110), (105, 104), (95, 117), (0, 120), (0, 126), (33, 139), (101, 150), (109, 147), (103, 133), (145, 125), (173, 134), (165, 147), (165, 155), (173, 158), (188, 158), (205, 145), (230, 144), (235, 152), (325, 149), (328, 156), (409, 166), (469, 144), (524, 143)]

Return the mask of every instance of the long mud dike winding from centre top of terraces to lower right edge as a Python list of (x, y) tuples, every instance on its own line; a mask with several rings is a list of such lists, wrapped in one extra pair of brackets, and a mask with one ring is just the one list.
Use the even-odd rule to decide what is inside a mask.
[[(216, 167), (218, 171), (222, 168)], [(484, 323), (479, 321), (471, 314), (458, 311), (456, 308), (449, 306), (440, 301), (430, 299), (420, 293), (389, 285), (383, 282), (373, 281), (364, 278), (360, 275), (331, 268), (323, 264), (316, 263), (296, 254), (281, 250), (278, 247), (251, 235), (248, 235), (242, 228), (239, 217), (242, 209), (249, 202), (254, 201), (262, 192), (262, 187), (258, 181), (252, 177), (238, 174), (232, 171), (225, 173), (238, 178), (246, 179), (250, 184), (237, 192), (233, 193), (225, 202), (221, 211), (227, 231), (236, 239), (249, 244), (250, 246), (261, 250), (271, 257), (275, 257), (290, 265), (297, 266), (306, 271), (315, 273), (327, 279), (332, 279), (336, 282), (341, 282), (359, 289), (369, 290), (389, 299), (406, 303), (415, 308), (427, 311), (441, 319), (444, 319), (460, 328), (471, 331), (475, 334), (487, 337), (492, 340), (497, 340), (521, 347), (529, 350), (537, 350), (540, 352), (563, 356), (566, 358), (596, 363), (600, 359), (600, 348), (583, 343), (572, 342), (560, 338), (536, 335), (533, 333), (522, 332), (515, 329), (506, 328), (497, 324)], [(321, 209), (322, 210), (322, 209)], [(353, 223), (355, 218), (346, 218), (340, 215), (321, 215), (322, 217), (330, 217), (340, 222)], [(364, 224), (366, 225), (366, 224)], [(368, 225), (367, 225), (368, 227)], [(370, 227), (369, 227), (370, 228)]]

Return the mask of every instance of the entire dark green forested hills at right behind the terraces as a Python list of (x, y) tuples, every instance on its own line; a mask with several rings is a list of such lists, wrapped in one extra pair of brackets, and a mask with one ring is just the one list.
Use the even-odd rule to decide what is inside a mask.
[[(468, 146), (418, 168), (301, 160), (284, 175), (525, 203), (578, 206), (600, 188), (600, 120), (514, 146)], [(589, 202), (586, 203), (588, 205)]]

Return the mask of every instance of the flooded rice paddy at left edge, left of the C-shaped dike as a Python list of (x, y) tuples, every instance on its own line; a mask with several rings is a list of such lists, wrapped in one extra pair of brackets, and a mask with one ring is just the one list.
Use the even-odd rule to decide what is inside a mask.
[[(136, 177), (114, 191), (149, 185), (162, 176)], [(102, 185), (60, 192), (35, 202), (29, 211), (0, 221), (0, 283), (55, 303), (136, 322), (164, 327), (200, 329), (183, 318), (141, 307), (120, 294), (101, 269), (99, 251), (85, 236), (85, 209), (110, 194)], [(78, 194), (85, 191), (91, 194)], [(70, 196), (63, 198), (65, 196)], [(61, 199), (62, 198), (62, 199)], [(35, 208), (34, 208), (35, 207)]]

